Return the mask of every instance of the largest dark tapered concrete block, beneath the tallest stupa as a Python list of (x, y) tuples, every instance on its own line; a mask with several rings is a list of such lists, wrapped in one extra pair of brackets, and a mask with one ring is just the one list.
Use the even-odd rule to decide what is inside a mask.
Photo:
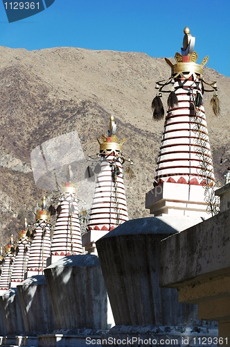
[[(139, 326), (135, 334), (141, 333), (143, 326), (161, 330), (168, 325), (177, 330), (195, 329), (200, 336), (214, 328), (212, 334), (217, 335), (215, 323), (197, 320), (197, 305), (179, 304), (177, 290), (159, 287), (161, 239), (182, 230), (186, 223), (193, 225), (189, 217), (133, 219), (96, 242), (116, 323), (109, 334), (114, 335), (118, 325), (127, 335), (131, 334), (130, 325)], [(150, 336), (153, 330), (146, 334)]]

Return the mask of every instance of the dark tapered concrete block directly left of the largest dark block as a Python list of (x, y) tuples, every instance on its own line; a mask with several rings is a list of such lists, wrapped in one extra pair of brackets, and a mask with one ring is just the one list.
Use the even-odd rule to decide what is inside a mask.
[(44, 270), (59, 329), (107, 329), (107, 292), (96, 255), (69, 255)]

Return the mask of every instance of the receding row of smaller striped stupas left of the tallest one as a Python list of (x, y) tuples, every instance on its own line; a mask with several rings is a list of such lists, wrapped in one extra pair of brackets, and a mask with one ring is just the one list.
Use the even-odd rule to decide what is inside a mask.
[[(118, 143), (114, 117), (110, 117), (109, 135), (102, 135), (100, 144), (100, 172), (97, 176), (92, 208), (87, 225), (87, 240), (83, 244), (87, 253), (95, 253), (94, 242), (108, 231), (128, 220), (123, 169), (121, 166), (122, 143)], [(122, 142), (124, 139), (122, 140)], [(68, 178), (73, 178), (71, 166)], [(0, 290), (16, 287), (25, 278), (44, 273), (46, 264), (56, 262), (67, 255), (82, 254), (82, 236), (78, 218), (77, 189), (73, 181), (62, 184), (57, 208), (47, 207), (43, 198), (41, 210), (37, 210), (32, 232), (19, 232), (17, 245), (12, 237), (6, 245), (4, 264), (1, 270)], [(51, 213), (57, 218), (51, 239)], [(91, 233), (93, 235), (91, 235)], [(94, 239), (92, 239), (92, 237)]]

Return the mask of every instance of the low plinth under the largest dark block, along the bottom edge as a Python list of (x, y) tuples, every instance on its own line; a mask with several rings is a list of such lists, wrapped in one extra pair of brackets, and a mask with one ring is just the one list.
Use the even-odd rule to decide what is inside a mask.
[(217, 346), (218, 329), (185, 325), (115, 325), (103, 334), (102, 346)]

